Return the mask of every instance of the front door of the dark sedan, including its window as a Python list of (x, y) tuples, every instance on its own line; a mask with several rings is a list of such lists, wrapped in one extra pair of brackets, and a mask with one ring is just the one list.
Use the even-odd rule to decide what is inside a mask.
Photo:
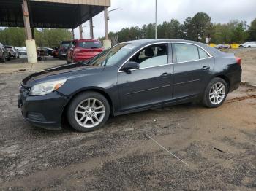
[(171, 48), (167, 43), (148, 45), (129, 61), (140, 69), (118, 71), (119, 112), (168, 102), (173, 92)]

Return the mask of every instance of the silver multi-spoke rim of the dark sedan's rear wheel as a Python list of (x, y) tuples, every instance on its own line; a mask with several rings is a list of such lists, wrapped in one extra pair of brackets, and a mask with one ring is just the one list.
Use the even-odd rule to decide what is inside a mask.
[(222, 82), (217, 82), (211, 87), (209, 98), (211, 104), (217, 105), (220, 104), (225, 98), (226, 90), (225, 85)]

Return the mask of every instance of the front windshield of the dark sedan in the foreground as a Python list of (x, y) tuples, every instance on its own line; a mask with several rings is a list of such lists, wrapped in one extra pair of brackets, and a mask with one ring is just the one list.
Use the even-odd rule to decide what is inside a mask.
[(91, 59), (91, 61), (89, 61), (87, 64), (92, 66), (113, 66), (139, 45), (140, 44), (129, 43), (118, 44), (115, 47), (110, 47), (109, 49), (101, 52), (99, 55)]

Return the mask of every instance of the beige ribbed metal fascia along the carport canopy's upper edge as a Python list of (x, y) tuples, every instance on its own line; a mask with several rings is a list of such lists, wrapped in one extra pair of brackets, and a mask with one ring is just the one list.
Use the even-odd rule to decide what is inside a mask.
[(65, 4), (88, 4), (110, 7), (110, 0), (31, 0), (31, 1), (45, 1), (51, 3), (65, 3)]

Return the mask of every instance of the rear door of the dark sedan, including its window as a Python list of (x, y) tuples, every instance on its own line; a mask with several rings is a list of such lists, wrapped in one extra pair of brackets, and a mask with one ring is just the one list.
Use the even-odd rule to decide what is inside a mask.
[(173, 43), (173, 99), (191, 98), (203, 92), (214, 58), (196, 44)]

